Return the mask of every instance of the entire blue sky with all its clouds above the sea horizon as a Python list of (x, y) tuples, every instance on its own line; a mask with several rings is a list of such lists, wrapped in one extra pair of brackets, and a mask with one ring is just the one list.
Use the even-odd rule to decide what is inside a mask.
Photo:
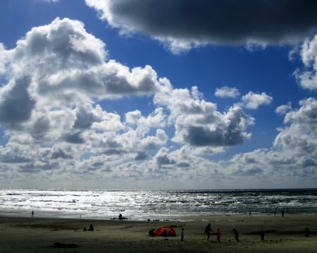
[(317, 1), (0, 1), (0, 188), (316, 187)]

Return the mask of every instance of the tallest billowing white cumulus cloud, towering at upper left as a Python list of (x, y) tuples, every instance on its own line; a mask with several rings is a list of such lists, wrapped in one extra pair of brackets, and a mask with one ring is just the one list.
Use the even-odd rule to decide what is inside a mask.
[[(6, 123), (26, 121), (32, 110), (77, 106), (93, 98), (153, 94), (164, 87), (150, 66), (130, 70), (116, 61), (106, 62), (104, 42), (68, 18), (33, 28), (6, 54), (12, 73), (0, 90), (1, 121)], [(7, 65), (8, 57), (2, 63)], [(84, 124), (76, 121), (75, 128), (88, 127), (92, 121)]]

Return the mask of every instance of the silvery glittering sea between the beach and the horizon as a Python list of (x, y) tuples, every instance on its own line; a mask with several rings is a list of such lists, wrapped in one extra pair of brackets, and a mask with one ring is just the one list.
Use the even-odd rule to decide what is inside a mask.
[(0, 215), (177, 220), (191, 216), (317, 214), (317, 189), (0, 190)]

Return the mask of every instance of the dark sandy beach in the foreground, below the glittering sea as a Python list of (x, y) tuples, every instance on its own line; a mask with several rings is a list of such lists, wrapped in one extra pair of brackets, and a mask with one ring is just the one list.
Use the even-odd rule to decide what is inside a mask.
[[(317, 215), (191, 218), (194, 221), (32, 220), (0, 216), (0, 252), (317, 252)], [(215, 232), (220, 228), (221, 243), (216, 242), (216, 235), (207, 242), (204, 228), (208, 223)], [(82, 231), (89, 224), (94, 225), (94, 232)], [(149, 237), (148, 231), (160, 226), (173, 226), (178, 236)], [(239, 231), (241, 242), (232, 236), (233, 228)], [(309, 228), (309, 237), (304, 237), (305, 228)], [(261, 230), (265, 233), (263, 242)], [(55, 242), (70, 248), (49, 247)]]

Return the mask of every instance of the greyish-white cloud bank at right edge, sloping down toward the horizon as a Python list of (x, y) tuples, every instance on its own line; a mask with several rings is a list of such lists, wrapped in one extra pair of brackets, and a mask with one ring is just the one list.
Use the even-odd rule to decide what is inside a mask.
[[(285, 127), (279, 129), (272, 149), (256, 149), (235, 155), (230, 168), (235, 173), (250, 172), (261, 178), (307, 178), (316, 180), (317, 165), (317, 101), (299, 102), (299, 109), (285, 115)], [(261, 168), (261, 169), (260, 169)]]

